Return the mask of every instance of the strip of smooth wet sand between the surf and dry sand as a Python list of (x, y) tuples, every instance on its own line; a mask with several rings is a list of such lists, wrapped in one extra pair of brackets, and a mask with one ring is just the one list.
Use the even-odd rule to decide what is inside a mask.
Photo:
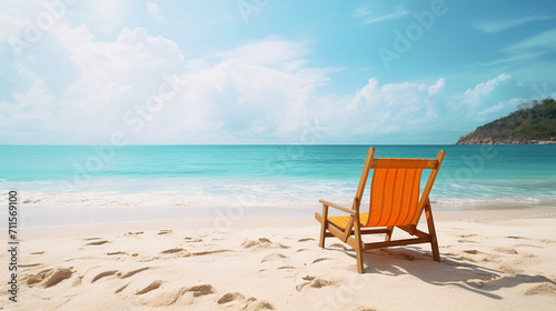
[[(332, 200), (335, 201), (335, 200)], [(335, 201), (349, 207), (348, 203)], [(365, 207), (363, 202), (361, 210)], [(185, 205), (43, 205), (21, 204), (19, 212), (19, 228), (52, 228), (68, 225), (95, 225), (110, 223), (149, 223), (163, 221), (218, 221), (221, 227), (238, 220), (261, 219), (312, 219), (321, 205), (312, 200), (311, 204), (297, 202), (296, 204), (205, 204), (196, 207)], [(433, 201), (433, 211), (448, 217), (458, 211), (478, 211), (481, 214), (496, 215), (498, 211), (554, 209), (555, 201), (458, 201), (438, 203)], [(492, 212), (490, 212), (492, 211)], [(449, 213), (444, 213), (449, 212)], [(6, 211), (0, 212), (0, 218), (7, 218)], [(0, 229), (6, 229), (7, 222), (0, 223)]]

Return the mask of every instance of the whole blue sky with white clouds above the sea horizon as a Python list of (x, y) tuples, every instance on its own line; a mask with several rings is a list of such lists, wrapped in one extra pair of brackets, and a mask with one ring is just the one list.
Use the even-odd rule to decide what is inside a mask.
[(0, 3), (0, 143), (454, 143), (556, 96), (554, 1)]

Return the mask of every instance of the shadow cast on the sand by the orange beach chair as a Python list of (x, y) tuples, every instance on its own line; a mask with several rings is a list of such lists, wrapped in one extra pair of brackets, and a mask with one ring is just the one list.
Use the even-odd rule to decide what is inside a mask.
[[(356, 258), (354, 250), (339, 250)], [(493, 293), (503, 288), (514, 288), (525, 283), (556, 287), (556, 282), (544, 275), (527, 275), (506, 273), (476, 262), (460, 260), (456, 255), (441, 254), (441, 262), (433, 260), (431, 252), (418, 247), (378, 249), (364, 252), (365, 273), (380, 273), (385, 275), (413, 275), (421, 281), (438, 285), (454, 285), (464, 290), (500, 300), (502, 297)], [(529, 289), (526, 295), (543, 291)]]

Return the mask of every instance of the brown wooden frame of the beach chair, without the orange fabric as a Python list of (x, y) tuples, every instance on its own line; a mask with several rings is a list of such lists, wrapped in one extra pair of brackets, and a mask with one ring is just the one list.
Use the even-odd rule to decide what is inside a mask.
[[(433, 249), (433, 259), (435, 261), (440, 261), (440, 253), (438, 251), (438, 241), (436, 238), (435, 223), (433, 220), (433, 211), (430, 208), (430, 200), (428, 195), (430, 194), (430, 190), (433, 189), (433, 184), (438, 174), (438, 170), (440, 169), (440, 164), (444, 160), (445, 154), (446, 152), (440, 150), (438, 152), (436, 160), (374, 159), (375, 148), (370, 148), (367, 153), (367, 160), (365, 161), (361, 179), (359, 180), (359, 187), (357, 188), (357, 193), (356, 197), (354, 198), (351, 209), (347, 209), (345, 207), (325, 200), (319, 200), (319, 202), (322, 203), (322, 215), (319, 214), (318, 212), (315, 213), (315, 218), (321, 223), (319, 245), (324, 248), (326, 238), (336, 237), (340, 239), (344, 243), (347, 243), (348, 245), (354, 248), (357, 253), (357, 272), (359, 273), (364, 273), (363, 252), (370, 249), (408, 245), (417, 243), (430, 243), (430, 247)], [(359, 205), (365, 190), (365, 184), (367, 183), (370, 169), (378, 169), (378, 168), (431, 170), (427, 180), (427, 184), (425, 185), (425, 189), (423, 190), (423, 193), (418, 201), (417, 205), (418, 214), (415, 223), (409, 225), (393, 225), (386, 228), (361, 228), (361, 224), (359, 222)], [(340, 227), (336, 225), (332, 221), (328, 219), (329, 207), (349, 214), (348, 224), (346, 225), (345, 229), (341, 229)], [(423, 213), (423, 211), (425, 211), (425, 215), (427, 219), (428, 233), (417, 229), (417, 223), (420, 219), (420, 214)], [(373, 207), (369, 207), (369, 213), (373, 213)], [(391, 241), (391, 234), (394, 232), (395, 227), (398, 227), (399, 229), (406, 231), (410, 235), (417, 238)], [(384, 242), (371, 242), (371, 243), (363, 242), (361, 240), (363, 234), (377, 234), (377, 233), (386, 233), (386, 239)]]

